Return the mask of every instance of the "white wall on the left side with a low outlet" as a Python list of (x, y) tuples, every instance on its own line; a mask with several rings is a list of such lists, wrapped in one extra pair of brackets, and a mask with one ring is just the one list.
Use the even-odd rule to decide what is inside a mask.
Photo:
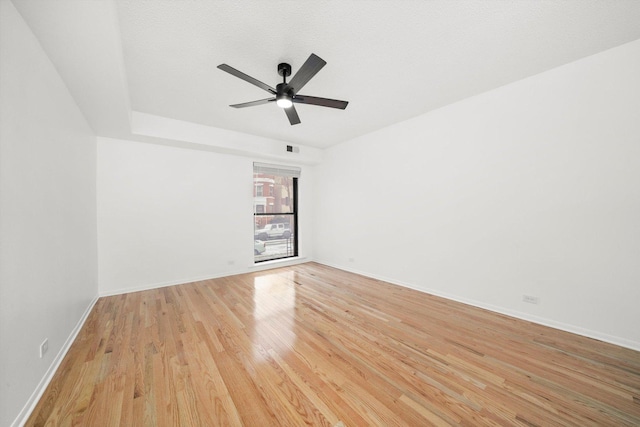
[[(98, 282), (95, 137), (4, 0), (0, 95), (0, 425), (7, 426), (35, 401)], [(40, 359), (45, 338), (49, 351)]]

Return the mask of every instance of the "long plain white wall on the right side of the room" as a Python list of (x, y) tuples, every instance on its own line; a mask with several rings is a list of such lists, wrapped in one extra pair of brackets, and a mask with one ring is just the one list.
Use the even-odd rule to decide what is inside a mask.
[(640, 41), (324, 156), (318, 261), (640, 349)]

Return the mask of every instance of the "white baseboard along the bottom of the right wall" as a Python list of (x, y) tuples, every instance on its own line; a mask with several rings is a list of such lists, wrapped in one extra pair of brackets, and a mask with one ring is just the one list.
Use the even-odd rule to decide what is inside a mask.
[(538, 316), (534, 316), (528, 313), (522, 313), (520, 311), (517, 310), (511, 310), (508, 308), (504, 308), (504, 307), (499, 307), (499, 306), (494, 306), (491, 304), (486, 304), (483, 303), (481, 301), (476, 301), (476, 300), (472, 300), (469, 298), (463, 298), (460, 297), (458, 295), (452, 295), (452, 294), (447, 294), (446, 292), (441, 292), (435, 289), (424, 289), (424, 288), (419, 288), (417, 286), (415, 286), (412, 283), (406, 283), (406, 282), (402, 282), (399, 280), (395, 280), (389, 277), (383, 277), (383, 276), (379, 276), (376, 274), (371, 274), (365, 271), (359, 271), (353, 268), (348, 268), (342, 265), (337, 265), (337, 264), (333, 264), (331, 262), (325, 262), (325, 261), (319, 261), (316, 260), (317, 263), (319, 264), (323, 264), (329, 267), (333, 267), (333, 268), (337, 268), (339, 270), (344, 270), (344, 271), (348, 271), (350, 273), (355, 273), (355, 274), (359, 274), (361, 276), (365, 276), (365, 277), (370, 277), (372, 279), (376, 279), (376, 280), (381, 280), (383, 282), (387, 282), (387, 283), (391, 283), (394, 285), (398, 285), (398, 286), (402, 286), (405, 288), (409, 288), (409, 289), (413, 289), (416, 290), (418, 292), (423, 292), (426, 294), (430, 294), (430, 295), (435, 295), (438, 297), (442, 297), (442, 298), (446, 298), (452, 301), (456, 301), (456, 302), (460, 302), (463, 304), (467, 304), (467, 305), (472, 305), (474, 307), (478, 307), (478, 308), (482, 308), (485, 310), (489, 310), (489, 311), (493, 311), (494, 313), (499, 313), (499, 314), (504, 314), (506, 316), (510, 316), (510, 317), (515, 317), (516, 319), (521, 319), (521, 320), (526, 320), (528, 322), (532, 322), (532, 323), (537, 323), (539, 325), (543, 325), (543, 326), (548, 326), (550, 328), (554, 328), (554, 329), (558, 329), (561, 331), (565, 331), (565, 332), (570, 332), (572, 334), (576, 334), (576, 335), (581, 335), (583, 337), (587, 337), (587, 338), (593, 338), (596, 340), (600, 340), (600, 341), (604, 341), (607, 342), (609, 344), (615, 344), (618, 345), (620, 347), (625, 347), (625, 348), (629, 348), (631, 350), (636, 350), (636, 351), (640, 351), (640, 342), (637, 341), (633, 341), (633, 340), (629, 340), (626, 338), (622, 338), (622, 337), (617, 337), (614, 335), (608, 335), (602, 332), (598, 332), (598, 331), (593, 331), (590, 329), (585, 329), (579, 326), (575, 326), (575, 325), (571, 325), (571, 324), (567, 324), (567, 323), (563, 323), (563, 322), (558, 322), (555, 321), (553, 319), (547, 319), (544, 317), (538, 317)]

